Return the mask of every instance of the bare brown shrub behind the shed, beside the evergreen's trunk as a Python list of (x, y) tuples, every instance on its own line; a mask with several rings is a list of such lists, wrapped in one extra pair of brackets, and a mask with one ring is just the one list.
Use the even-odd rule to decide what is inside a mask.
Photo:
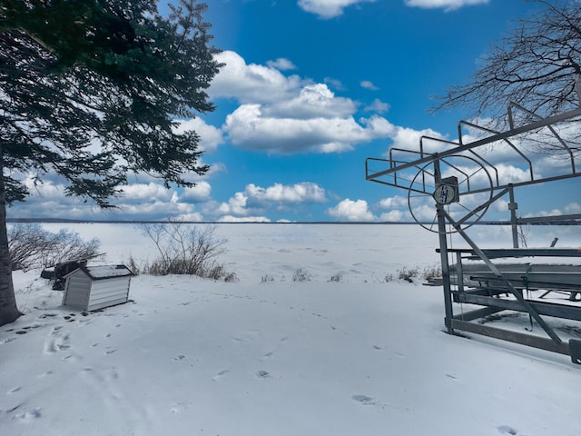
[(99, 256), (101, 242), (83, 241), (78, 233), (61, 229), (44, 230), (38, 223), (15, 223), (8, 229), (8, 250), (12, 269), (28, 271), (79, 259)]

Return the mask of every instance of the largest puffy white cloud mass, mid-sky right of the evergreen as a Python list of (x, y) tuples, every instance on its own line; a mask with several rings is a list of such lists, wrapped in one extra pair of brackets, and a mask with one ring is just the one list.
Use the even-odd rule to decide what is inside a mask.
[[(234, 52), (216, 57), (226, 65), (214, 78), (210, 94), (241, 103), (226, 117), (222, 130), (231, 144), (242, 149), (338, 153), (394, 132), (394, 126), (377, 114), (356, 120), (358, 104), (335, 95), (328, 84), (287, 77), (274, 63), (246, 64)], [(386, 109), (379, 101), (376, 107)]]

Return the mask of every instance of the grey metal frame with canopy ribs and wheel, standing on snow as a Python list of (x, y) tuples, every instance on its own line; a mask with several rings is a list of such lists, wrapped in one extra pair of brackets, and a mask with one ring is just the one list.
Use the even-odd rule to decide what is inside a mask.
[[(527, 124), (516, 125), (518, 112), (527, 117)], [(581, 159), (581, 153), (574, 151), (559, 134), (560, 123), (576, 122), (581, 117), (581, 107), (564, 114), (541, 118), (537, 114), (527, 111), (517, 104), (508, 105), (509, 129), (505, 132), (496, 132), (478, 124), (461, 121), (458, 123), (458, 141), (451, 142), (429, 136), (422, 136), (419, 141), (419, 150), (404, 150), (392, 148), (389, 150), (388, 159), (368, 158), (365, 163), (366, 179), (370, 182), (382, 183), (393, 187), (406, 189), (409, 195), (409, 210), (414, 219), (428, 230), (439, 234), (439, 253), (442, 269), (442, 286), (444, 288), (445, 302), (445, 325), (448, 333), (456, 331), (474, 332), (497, 339), (510, 342), (517, 342), (540, 349), (560, 352), (571, 356), (575, 363), (581, 364), (581, 341), (570, 339), (564, 342), (556, 334), (555, 330), (545, 321), (542, 315), (556, 316), (568, 320), (581, 321), (581, 307), (576, 305), (566, 305), (563, 308), (552, 308), (548, 310), (537, 302), (527, 300), (523, 295), (523, 289), (509, 280), (497, 264), (492, 259), (497, 258), (517, 258), (522, 256), (565, 256), (581, 257), (581, 249), (559, 250), (559, 249), (523, 249), (518, 247), (517, 227), (522, 223), (547, 223), (577, 221), (581, 219), (581, 214), (559, 215), (551, 217), (537, 218), (517, 218), (517, 203), (515, 202), (515, 189), (518, 187), (534, 185), (537, 183), (551, 183), (581, 176), (576, 168), (576, 158)], [(534, 120), (530, 122), (530, 120)], [(569, 124), (570, 125), (570, 124)], [(483, 133), (483, 137), (468, 144), (463, 143), (463, 129), (469, 128), (472, 131), (478, 130)], [(539, 175), (542, 171), (537, 171), (536, 164), (529, 158), (531, 151), (527, 149), (526, 141), (522, 141), (525, 134), (547, 134), (560, 148), (562, 158), (566, 165), (561, 167), (560, 173)], [(428, 143), (436, 144), (439, 148), (437, 152), (428, 153)], [(514, 159), (519, 162), (525, 176), (518, 181), (503, 183), (499, 176), (497, 165), (490, 163), (487, 159), (487, 150), (493, 144), (504, 144), (504, 148), (509, 150)], [(441, 150), (440, 150), (441, 149)], [(494, 149), (493, 149), (494, 151)], [(470, 163), (470, 169), (465, 165), (457, 163), (459, 159)], [(372, 169), (379, 167), (379, 169)], [(448, 173), (455, 173), (458, 177), (444, 177), (443, 167)], [(415, 177), (409, 177), (410, 172), (417, 172)], [(477, 175), (478, 174), (478, 177)], [(480, 183), (476, 182), (476, 179)], [(450, 179), (453, 181), (450, 183)], [(471, 180), (472, 179), (472, 180)], [(459, 180), (459, 183), (456, 181)], [(484, 182), (483, 182), (484, 181)], [(473, 182), (473, 183), (471, 183)], [(509, 196), (508, 209), (510, 211), (510, 223), (512, 226), (511, 249), (503, 249), (500, 252), (486, 250), (478, 247), (467, 233), (467, 229), (487, 212), (490, 204), (497, 202), (503, 196)], [(411, 201), (414, 196), (428, 196), (429, 200), (435, 200), (435, 218), (432, 223), (425, 223), (419, 220), (412, 208)], [(480, 202), (477, 205), (465, 206), (460, 204), (460, 216), (458, 213), (450, 213), (449, 205), (461, 203), (463, 199), (470, 196), (480, 195)], [(448, 249), (447, 234), (458, 233), (468, 243), (469, 249), (452, 250)], [(450, 265), (448, 256), (457, 255), (456, 265)], [(488, 273), (492, 277), (494, 285), (488, 289), (494, 291), (494, 299), (468, 298), (464, 292), (462, 274), (454, 275), (451, 271), (454, 266), (462, 268), (462, 255), (469, 255), (477, 258), (486, 264)], [(452, 268), (451, 268), (452, 267)], [(460, 277), (460, 280), (458, 280)], [(454, 282), (452, 279), (456, 279)], [(581, 282), (578, 285), (581, 292)], [(576, 289), (575, 287), (573, 289)], [(501, 293), (510, 295), (509, 299), (502, 299)], [(574, 295), (574, 294), (572, 294)], [(455, 315), (453, 302), (472, 302), (485, 306), (468, 313)], [(557, 303), (550, 303), (552, 306), (559, 306)], [(527, 312), (531, 320), (547, 333), (548, 338), (523, 332), (511, 332), (501, 330), (488, 325), (473, 323), (478, 318), (501, 310), (511, 309)], [(532, 322), (532, 321), (531, 321)]]

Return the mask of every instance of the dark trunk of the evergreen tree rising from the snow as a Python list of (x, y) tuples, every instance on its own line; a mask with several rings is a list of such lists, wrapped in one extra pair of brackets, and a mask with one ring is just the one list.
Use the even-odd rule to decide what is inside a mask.
[(0, 148), (0, 325), (15, 322), (21, 315), (22, 313), (16, 307), (15, 286), (12, 282), (12, 262), (8, 251), (4, 165), (2, 164), (2, 150)]

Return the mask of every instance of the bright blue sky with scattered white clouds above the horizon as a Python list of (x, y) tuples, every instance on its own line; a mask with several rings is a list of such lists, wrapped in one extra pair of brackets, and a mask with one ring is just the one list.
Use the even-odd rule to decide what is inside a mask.
[[(455, 140), (466, 114), (428, 114), (431, 97), (466, 82), (487, 47), (538, 7), (525, 0), (207, 3), (226, 65), (209, 90), (216, 111), (182, 124), (202, 136), (202, 162), (211, 166), (197, 187), (166, 190), (141, 174), (124, 188), (120, 209), (102, 213), (64, 197), (49, 176), (9, 218), (410, 221), (407, 193), (367, 182), (365, 159), (394, 145), (417, 147), (422, 134)], [(581, 213), (576, 183), (557, 194), (524, 190), (519, 213)], [(495, 208), (487, 218), (508, 218)]]

